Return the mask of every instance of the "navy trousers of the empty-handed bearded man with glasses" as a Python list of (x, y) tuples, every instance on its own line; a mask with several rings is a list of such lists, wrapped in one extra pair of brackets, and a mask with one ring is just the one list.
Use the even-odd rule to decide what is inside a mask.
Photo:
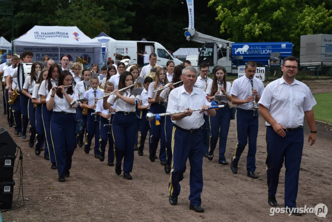
[(303, 149), (303, 128), (279, 136), (266, 128), (266, 174), (269, 196), (276, 196), (280, 169), (285, 159), (285, 207), (296, 207), (298, 178)]

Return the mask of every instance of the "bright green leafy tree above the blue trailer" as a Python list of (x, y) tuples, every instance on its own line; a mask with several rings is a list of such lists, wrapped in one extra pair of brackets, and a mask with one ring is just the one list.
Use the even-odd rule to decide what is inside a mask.
[[(319, 1), (301, 0), (211, 0), (217, 11), (220, 33), (234, 42), (283, 42), (294, 44), (298, 56), (301, 35), (331, 33), (331, 10)], [(318, 4), (318, 5), (317, 5)], [(330, 5), (329, 5), (330, 7)]]

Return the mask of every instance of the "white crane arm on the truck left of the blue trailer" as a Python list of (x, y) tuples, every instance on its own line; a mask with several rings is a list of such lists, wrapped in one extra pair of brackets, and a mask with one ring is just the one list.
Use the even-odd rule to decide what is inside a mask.
[[(224, 39), (219, 39), (209, 35), (205, 35), (203, 33), (197, 32), (196, 29), (185, 28), (185, 30), (186, 30), (185, 36), (187, 38), (187, 41), (194, 41), (204, 44), (213, 42), (218, 44), (218, 46), (221, 45), (222, 48), (226, 48), (227, 46), (232, 47), (232, 43), (234, 43)], [(219, 48), (221, 47), (219, 46)]]

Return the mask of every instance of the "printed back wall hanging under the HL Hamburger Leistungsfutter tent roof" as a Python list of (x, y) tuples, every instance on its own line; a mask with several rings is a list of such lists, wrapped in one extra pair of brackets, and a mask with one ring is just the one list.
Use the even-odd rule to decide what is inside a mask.
[(55, 63), (59, 63), (61, 56), (68, 56), (69, 60), (76, 62), (76, 56), (84, 59), (86, 64), (93, 64), (94, 61), (94, 48), (79, 48), (79, 47), (29, 47), (29, 46), (16, 46), (15, 53), (20, 55), (23, 51), (31, 51), (34, 53), (33, 61), (41, 61), (45, 55), (48, 55)]

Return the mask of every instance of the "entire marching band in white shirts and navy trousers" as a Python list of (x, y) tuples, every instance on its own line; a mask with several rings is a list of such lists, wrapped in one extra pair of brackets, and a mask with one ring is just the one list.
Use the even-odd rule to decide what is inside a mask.
[[(168, 191), (171, 205), (178, 203), (179, 183), (189, 158), (189, 208), (196, 212), (204, 211), (201, 207), (203, 157), (213, 159), (218, 139), (218, 162), (228, 164), (225, 151), (231, 119), (236, 121), (238, 142), (230, 169), (234, 174), (238, 173), (239, 158), (248, 144), (247, 176), (258, 178), (255, 174), (258, 112), (267, 120), (268, 203), (275, 206), (284, 155), (277, 149), (281, 143), (278, 135), (291, 138), (294, 134), (300, 138), (302, 143), (297, 142), (303, 147), (303, 115), (310, 120), (312, 106), (316, 104), (310, 90), (304, 84), (295, 82), (299, 85), (298, 90), (303, 91), (294, 96), (294, 106), (299, 107), (298, 115), (302, 116), (302, 120), (299, 118), (298, 124), (287, 125), (276, 110), (267, 109), (278, 103), (278, 99), (273, 102), (276, 100), (273, 97), (276, 84), (270, 86), (270, 83), (267, 87), (269, 93), (266, 92), (263, 82), (253, 78), (257, 67), (254, 61), (247, 62), (245, 76), (231, 84), (226, 81), (224, 67), (216, 67), (212, 79), (208, 78), (206, 63), (200, 64), (199, 75), (194, 67), (174, 67), (172, 61), (167, 63), (165, 70), (156, 65), (154, 53), (149, 57), (150, 64), (144, 66), (141, 73), (135, 64), (128, 67), (130, 61), (123, 61), (117, 64), (117, 69), (114, 65), (101, 68), (101, 74), (106, 75), (103, 79), (99, 78), (96, 64), (92, 69), (83, 69), (83, 65), (76, 62), (71, 66), (73, 72), (70, 72), (67, 56), (61, 57), (60, 66), (45, 58), (48, 59), (45, 67), (37, 61), (32, 63), (32, 58), (33, 53), (25, 51), (20, 58), (13, 56), (11, 65), (0, 67), (5, 89), (5, 112), (9, 126), (15, 125), (15, 134), (22, 139), (26, 138), (30, 121), (29, 146), (35, 146), (36, 155), (40, 155), (42, 147), (45, 147), (44, 158), (50, 161), (51, 169), (58, 170), (59, 182), (65, 182), (66, 177), (70, 176), (74, 150), (77, 145), (83, 146), (84, 137), (85, 153), (91, 150), (95, 137), (94, 156), (103, 162), (108, 143), (107, 165), (115, 165), (117, 175), (124, 171), (124, 179), (132, 179), (135, 147), (138, 147), (138, 155), (143, 156), (149, 131), (149, 159), (154, 162), (158, 158), (156, 152), (160, 140), (159, 160), (164, 171), (170, 174)], [(291, 64), (283, 66), (283, 78), (289, 81), (286, 83), (280, 79), (280, 84), (288, 84), (283, 85), (285, 91), (280, 91), (280, 94), (293, 85), (290, 75), (297, 72), (296, 58), (287, 57), (285, 62)], [(236, 112), (229, 102), (236, 105)], [(279, 126), (280, 121), (287, 128)], [(312, 133), (309, 140), (313, 144), (316, 139), (315, 125), (312, 122), (309, 125)], [(290, 148), (295, 149), (294, 144)], [(285, 150), (290, 148), (283, 147)], [(296, 151), (296, 161), (299, 162), (301, 150)], [(279, 159), (275, 159), (276, 156)], [(289, 165), (293, 173), (286, 170), (287, 195), (290, 197), (285, 195), (285, 205), (295, 207), (299, 164)]]

